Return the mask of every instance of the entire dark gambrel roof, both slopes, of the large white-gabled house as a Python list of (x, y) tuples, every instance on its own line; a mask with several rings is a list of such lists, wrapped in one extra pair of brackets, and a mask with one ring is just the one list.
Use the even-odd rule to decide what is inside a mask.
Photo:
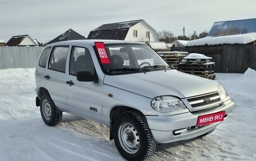
[(143, 20), (104, 24), (90, 31), (88, 39), (125, 40), (130, 27), (138, 24), (140, 21)]

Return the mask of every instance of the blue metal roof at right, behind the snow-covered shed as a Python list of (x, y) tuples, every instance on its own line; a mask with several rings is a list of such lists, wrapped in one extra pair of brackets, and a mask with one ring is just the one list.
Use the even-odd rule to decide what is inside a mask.
[(256, 19), (214, 22), (207, 36), (256, 33)]

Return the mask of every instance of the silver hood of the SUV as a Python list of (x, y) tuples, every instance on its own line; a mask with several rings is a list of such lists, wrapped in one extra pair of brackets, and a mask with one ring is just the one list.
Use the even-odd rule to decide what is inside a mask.
[(106, 75), (104, 84), (152, 99), (160, 95), (188, 98), (218, 91), (217, 82), (176, 70)]

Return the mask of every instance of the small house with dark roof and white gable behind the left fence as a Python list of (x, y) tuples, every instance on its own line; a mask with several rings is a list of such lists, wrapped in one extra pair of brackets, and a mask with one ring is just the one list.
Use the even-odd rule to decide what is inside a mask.
[(38, 45), (30, 38), (29, 35), (19, 35), (12, 36), (10, 40), (5, 44), (5, 46), (15, 47), (15, 46), (35, 46)]

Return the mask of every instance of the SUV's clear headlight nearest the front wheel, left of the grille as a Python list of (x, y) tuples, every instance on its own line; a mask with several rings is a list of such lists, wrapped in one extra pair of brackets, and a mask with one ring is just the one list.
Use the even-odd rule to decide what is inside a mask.
[(185, 104), (173, 96), (158, 96), (152, 100), (151, 106), (158, 112), (172, 112), (186, 109)]

